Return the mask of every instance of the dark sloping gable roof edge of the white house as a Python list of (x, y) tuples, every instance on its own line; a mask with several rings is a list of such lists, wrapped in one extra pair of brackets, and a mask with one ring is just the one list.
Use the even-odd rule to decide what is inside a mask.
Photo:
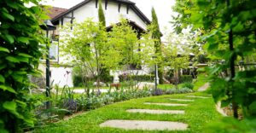
[[(89, 3), (91, 0), (84, 0), (81, 3), (78, 3), (77, 5), (73, 6), (71, 9), (67, 9), (63, 12), (60, 12), (59, 14), (56, 14), (54, 17), (51, 17), (51, 21), (55, 22), (57, 20), (60, 20), (62, 17), (64, 17), (65, 15), (71, 13), (73, 10), (75, 9), (79, 9), (80, 7), (84, 6), (84, 4)], [(150, 24), (150, 20), (148, 20), (148, 18), (146, 17), (145, 14), (143, 14), (143, 12), (137, 8), (137, 6), (135, 5), (135, 3), (129, 1), (129, 0), (109, 0), (109, 1), (113, 1), (116, 3), (125, 3), (128, 4), (130, 6), (130, 8), (146, 23), (146, 24)], [(59, 8), (60, 9), (60, 8)]]

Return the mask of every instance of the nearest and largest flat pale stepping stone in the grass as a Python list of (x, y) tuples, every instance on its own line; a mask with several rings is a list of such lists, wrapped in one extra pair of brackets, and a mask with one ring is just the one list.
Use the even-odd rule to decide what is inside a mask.
[(100, 126), (125, 130), (186, 130), (188, 128), (188, 124), (154, 120), (108, 120)]

